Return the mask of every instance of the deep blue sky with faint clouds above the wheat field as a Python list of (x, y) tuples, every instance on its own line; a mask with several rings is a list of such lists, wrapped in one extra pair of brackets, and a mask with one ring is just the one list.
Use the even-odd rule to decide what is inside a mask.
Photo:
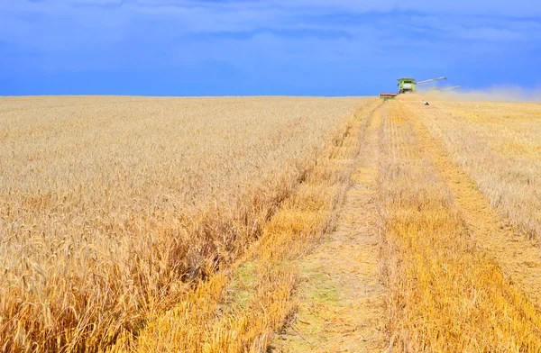
[(541, 86), (539, 0), (0, 0), (0, 95)]

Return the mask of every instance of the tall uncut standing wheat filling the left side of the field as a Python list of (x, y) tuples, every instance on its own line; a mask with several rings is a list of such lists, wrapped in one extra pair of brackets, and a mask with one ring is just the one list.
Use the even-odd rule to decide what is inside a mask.
[(0, 104), (0, 348), (94, 351), (241, 254), (363, 103)]

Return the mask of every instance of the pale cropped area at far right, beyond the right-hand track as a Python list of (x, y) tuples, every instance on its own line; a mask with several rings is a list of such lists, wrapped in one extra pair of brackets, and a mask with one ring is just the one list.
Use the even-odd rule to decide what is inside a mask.
[(441, 101), (413, 112), (441, 136), (491, 205), (541, 241), (541, 104)]

